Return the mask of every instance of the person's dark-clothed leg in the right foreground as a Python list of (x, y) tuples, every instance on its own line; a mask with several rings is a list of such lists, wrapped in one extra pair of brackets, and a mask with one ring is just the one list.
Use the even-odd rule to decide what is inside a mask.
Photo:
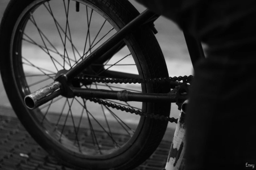
[[(162, 9), (161, 14), (177, 19), (181, 28), (187, 25), (209, 45), (207, 58), (196, 64), (187, 108), (186, 169), (252, 168), (256, 165), (256, 16), (251, 9), (256, 1), (200, 1), (203, 8), (187, 9), (190, 13), (185, 14), (174, 10), (174, 16), (168, 11), (175, 8), (168, 6), (171, 1), (138, 1), (156, 12)], [(184, 7), (191, 1), (179, 2)]]

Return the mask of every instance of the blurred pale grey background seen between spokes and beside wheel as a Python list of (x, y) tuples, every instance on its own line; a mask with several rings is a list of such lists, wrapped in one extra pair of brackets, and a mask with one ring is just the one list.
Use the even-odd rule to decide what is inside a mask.
[[(129, 0), (129, 1), (138, 9), (139, 12), (143, 12), (145, 10), (145, 7), (141, 6), (140, 4), (136, 3), (135, 1), (133, 1), (133, 0)], [(0, 1), (0, 20), (3, 16), (4, 10), (5, 10), (8, 2), (9, 2), (9, 0), (1, 0)], [(65, 28), (65, 22), (64, 22), (65, 21), (65, 17), (64, 17), (65, 13), (63, 12), (63, 7), (61, 8), (58, 5), (54, 5), (54, 3), (52, 4), (52, 7), (54, 8), (54, 14), (56, 15), (56, 17), (58, 17), (60, 19), (60, 21), (61, 20), (63, 21), (63, 22), (60, 22), (60, 25), (63, 26), (63, 28)], [(73, 9), (73, 11), (75, 10), (74, 7), (75, 7), (74, 4), (70, 5), (70, 9)], [(80, 11), (83, 11), (83, 7), (80, 8)], [(58, 51), (63, 51), (63, 48), (61, 47), (61, 41), (59, 39), (57, 40), (57, 38), (56, 38), (58, 36), (57, 30), (54, 31), (51, 28), (51, 26), (54, 26), (54, 22), (52, 22), (52, 21), (51, 21), (51, 23), (49, 22), (49, 13), (48, 14), (45, 13), (45, 11), (43, 11), (43, 9), (42, 10), (38, 9), (36, 12), (37, 13), (34, 15), (34, 17), (35, 17), (35, 21), (37, 21), (37, 24), (40, 25), (40, 28), (43, 30), (44, 34), (48, 35), (48, 37), (50, 37), (49, 39), (53, 43), (53, 45), (56, 47), (56, 49)], [(90, 13), (90, 11), (89, 11), (89, 13)], [(72, 27), (71, 30), (72, 30), (72, 33), (74, 33), (74, 35), (72, 35), (72, 41), (74, 42), (74, 45), (77, 47), (78, 51), (82, 50), (83, 46), (84, 46), (84, 45), (81, 45), (81, 44), (83, 44), (84, 38), (81, 38), (80, 36), (85, 33), (84, 33), (84, 30), (80, 29), (80, 28), (86, 24), (86, 20), (87, 20), (86, 17), (82, 17), (82, 15), (81, 15), (81, 17), (75, 17), (70, 14), (70, 22), (73, 21), (73, 24), (70, 24)], [(92, 25), (92, 27), (90, 28), (91, 35), (97, 34), (99, 23), (102, 23), (99, 16), (94, 15), (94, 17), (91, 19), (91, 25)], [(166, 64), (168, 67), (169, 76), (170, 77), (174, 77), (174, 76), (178, 77), (178, 76), (184, 76), (184, 75), (187, 75), (187, 76), (192, 75), (193, 67), (192, 67), (192, 64), (191, 64), (191, 61), (189, 58), (189, 53), (187, 50), (187, 46), (186, 46), (182, 31), (177, 27), (177, 25), (175, 23), (173, 23), (172, 21), (169, 21), (168, 19), (166, 19), (164, 17), (160, 17), (158, 20), (156, 20), (154, 22), (154, 24), (158, 31), (158, 34), (156, 34), (156, 38), (157, 38), (157, 40), (160, 44), (160, 47), (162, 49), (162, 52), (164, 54)], [(95, 25), (95, 27), (93, 27), (93, 25)], [(111, 25), (105, 24), (104, 29), (107, 30), (108, 26), (110, 27)], [(104, 32), (104, 29), (102, 32)], [(114, 32), (112, 34), (114, 34)], [(38, 46), (35, 46), (35, 43), (31, 44), (31, 41), (29, 42), (30, 38), (34, 39), (34, 38), (38, 38), (38, 36), (39, 36), (38, 30), (35, 29), (33, 22), (28, 23), (26, 26), (26, 37), (25, 37), (27, 41), (23, 42), (24, 47), (22, 49), (23, 50), (22, 55), (26, 56), (26, 60), (33, 63), (34, 65), (38, 65), (47, 70), (53, 71), (53, 70), (55, 70), (55, 65), (53, 65), (51, 63), (51, 61), (49, 61), (49, 58), (45, 57), (45, 53), (43, 52), (43, 50), (40, 49)], [(107, 39), (107, 38), (108, 37), (106, 36), (105, 39)], [(49, 44), (47, 44), (47, 45), (49, 45)], [(97, 46), (95, 46), (95, 48), (96, 47)], [(72, 52), (73, 52), (72, 46), (70, 45), (69, 48), (67, 48), (67, 53), (72, 55)], [(115, 63), (116, 61), (118, 61), (125, 54), (128, 54), (127, 50), (121, 51), (119, 54), (117, 54), (116, 59), (112, 60), (112, 63)], [(55, 55), (55, 54), (52, 54), (52, 55)], [(123, 60), (122, 62), (130, 63), (131, 60), (127, 57), (126, 60)], [(111, 62), (109, 64), (111, 64)], [(57, 68), (59, 69), (59, 66), (57, 66)], [(136, 73), (136, 69), (133, 69), (132, 67), (129, 67), (129, 68), (128, 67), (127, 68), (126, 67), (115, 67), (115, 68), (111, 68), (111, 69), (117, 70), (117, 71), (127, 70), (132, 73)], [(29, 75), (38, 74), (38, 69), (35, 67), (29, 67), (29, 66), (24, 67), (24, 71)], [(34, 77), (29, 77), (29, 78), (27, 78), (27, 81), (28, 81), (28, 84), (31, 84), (31, 83), (33, 84), (34, 82), (39, 81), (39, 79), (36, 79)], [(48, 82), (45, 81), (44, 83), (41, 83), (39, 86), (36, 86), (35, 89), (32, 88), (31, 91), (35, 91), (38, 88), (45, 86), (47, 83)], [(125, 87), (128, 88), (128, 86), (129, 85), (126, 85)], [(138, 86), (134, 86), (132, 88), (139, 89)], [(56, 112), (56, 110), (60, 109), (60, 107), (62, 107), (62, 105), (59, 103), (61, 103), (61, 102), (63, 103), (63, 101), (61, 101), (61, 100), (56, 102), (55, 105), (51, 107), (51, 111)], [(95, 112), (94, 114), (97, 114), (97, 109), (101, 109), (101, 108), (98, 108), (99, 105), (95, 105), (93, 103), (90, 105), (93, 107), (92, 113)], [(139, 107), (139, 106), (137, 106), (136, 103), (134, 103), (134, 106)], [(4, 87), (2, 84), (2, 80), (0, 80), (0, 107), (11, 107), (8, 97), (5, 93), (5, 90), (4, 90)], [(73, 104), (73, 109), (74, 109), (73, 114), (76, 114), (76, 113), (77, 113), (77, 115), (80, 114), (80, 111), (77, 110), (78, 107), (79, 107), (79, 102), (76, 104), (75, 103)], [(179, 110), (177, 108), (178, 107), (175, 104), (173, 104), (171, 106), (171, 117), (178, 118)], [(67, 109), (68, 108), (66, 108), (66, 110)], [(108, 113), (108, 110), (105, 110), (105, 112)], [(0, 113), (0, 114), (2, 114), (2, 113)], [(136, 123), (137, 122), (136, 115), (133, 117), (133, 116), (130, 116), (130, 114), (129, 115), (127, 114), (127, 116), (122, 116), (122, 118), (124, 120), (126, 120), (126, 122), (128, 122), (128, 123), (134, 123), (134, 122)], [(176, 124), (169, 123), (168, 127), (175, 128)]]

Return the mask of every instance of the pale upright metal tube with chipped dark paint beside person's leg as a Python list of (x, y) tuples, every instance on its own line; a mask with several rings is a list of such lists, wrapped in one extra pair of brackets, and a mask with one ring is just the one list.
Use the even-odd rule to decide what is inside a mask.
[(167, 163), (163, 170), (179, 170), (180, 163), (183, 159), (185, 152), (186, 140), (185, 140), (185, 116), (186, 116), (186, 106), (188, 100), (186, 100), (182, 106), (179, 114), (178, 123), (172, 140), (171, 149), (167, 159)]

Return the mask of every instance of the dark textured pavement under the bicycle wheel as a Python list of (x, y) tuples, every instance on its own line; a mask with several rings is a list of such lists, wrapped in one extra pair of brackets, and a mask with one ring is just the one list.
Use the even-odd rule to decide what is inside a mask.
[[(1, 170), (71, 170), (60, 164), (54, 157), (49, 156), (26, 132), (20, 121), (15, 117), (12, 109), (0, 108), (0, 169)], [(9, 116), (3, 116), (9, 115)], [(74, 135), (67, 128), (66, 136)], [(86, 134), (87, 129), (83, 129)], [(173, 132), (172, 132), (173, 133)], [(170, 132), (169, 132), (170, 134)], [(104, 138), (102, 132), (102, 138)], [(123, 140), (120, 135), (120, 140)], [(170, 145), (170, 137), (162, 140), (160, 146), (136, 170), (161, 170), (166, 163)], [(105, 139), (106, 140), (106, 139)]]

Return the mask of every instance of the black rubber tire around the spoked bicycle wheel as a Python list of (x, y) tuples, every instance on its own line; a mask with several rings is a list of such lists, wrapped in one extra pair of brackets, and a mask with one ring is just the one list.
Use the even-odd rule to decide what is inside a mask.
[[(139, 15), (139, 12), (127, 0), (86, 0), (94, 6), (99, 7), (117, 25), (122, 28), (125, 24)], [(19, 1), (11, 0), (5, 10), (0, 26), (0, 71), (3, 84), (9, 101), (17, 117), (24, 125), (28, 133), (49, 154), (57, 157), (62, 163), (69, 167), (79, 169), (132, 169), (143, 163), (158, 147), (167, 128), (168, 122), (144, 118), (140, 135), (130, 145), (129, 149), (118, 156), (105, 159), (84, 159), (77, 157), (72, 152), (56, 145), (40, 125), (31, 117), (30, 110), (24, 104), (24, 95), (20, 93), (17, 85), (19, 80), (13, 70), (15, 66), (11, 56), (11, 40), (16, 20), (22, 11), (34, 0)], [(168, 71), (161, 48), (149, 26), (138, 28), (135, 33), (129, 35), (133, 42), (131, 48), (139, 56), (140, 65), (143, 69), (144, 78), (168, 77)], [(166, 93), (170, 91), (167, 83), (147, 84), (147, 92)], [(151, 113), (169, 116), (170, 103), (150, 103), (147, 110)], [(127, 113), (130, 114), (130, 113)]]

